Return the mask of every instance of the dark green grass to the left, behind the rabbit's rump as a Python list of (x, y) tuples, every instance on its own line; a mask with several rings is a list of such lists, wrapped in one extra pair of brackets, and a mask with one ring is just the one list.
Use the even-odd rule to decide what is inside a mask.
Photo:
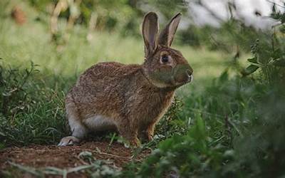
[(54, 143), (65, 132), (64, 93), (38, 80), (35, 68), (0, 66), (1, 145)]

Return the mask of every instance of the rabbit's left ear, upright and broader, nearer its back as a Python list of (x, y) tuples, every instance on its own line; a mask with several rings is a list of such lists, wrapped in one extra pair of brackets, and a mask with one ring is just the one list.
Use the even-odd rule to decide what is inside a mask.
[(150, 56), (157, 48), (157, 14), (149, 12), (142, 23), (142, 36), (145, 41), (145, 57)]

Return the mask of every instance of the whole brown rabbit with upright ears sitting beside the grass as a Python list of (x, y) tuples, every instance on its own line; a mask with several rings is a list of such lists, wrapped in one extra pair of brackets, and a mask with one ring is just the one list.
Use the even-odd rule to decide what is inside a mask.
[(89, 131), (118, 130), (138, 145), (138, 135), (152, 140), (155, 124), (166, 112), (176, 88), (192, 80), (192, 68), (180, 51), (170, 48), (181, 14), (158, 37), (157, 14), (145, 15), (142, 65), (98, 63), (78, 79), (66, 98), (72, 136), (60, 146), (82, 140)]

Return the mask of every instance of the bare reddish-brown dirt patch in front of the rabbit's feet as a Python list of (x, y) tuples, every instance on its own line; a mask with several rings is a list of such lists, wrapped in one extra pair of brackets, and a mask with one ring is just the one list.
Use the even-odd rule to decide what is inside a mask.
[(78, 167), (86, 164), (78, 156), (84, 151), (91, 152), (95, 159), (110, 160), (113, 166), (119, 168), (132, 159), (140, 161), (150, 154), (150, 150), (144, 150), (133, 157), (132, 150), (124, 147), (123, 144), (113, 143), (109, 145), (108, 142), (83, 142), (80, 145), (68, 147), (57, 147), (56, 145), (9, 147), (0, 151), (0, 170), (11, 168), (9, 162), (35, 168), (58, 167), (67, 169)]

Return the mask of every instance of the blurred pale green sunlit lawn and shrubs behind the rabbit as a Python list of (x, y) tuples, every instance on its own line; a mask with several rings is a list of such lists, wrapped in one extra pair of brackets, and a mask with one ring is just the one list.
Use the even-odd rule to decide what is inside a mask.
[[(178, 11), (183, 13), (182, 21), (191, 19), (187, 14), (189, 4), (185, 1), (60, 1), (59, 4), (63, 5), (59, 6), (61, 9), (58, 8), (60, 13), (56, 16), (56, 23), (51, 23), (56, 2), (1, 2), (1, 58), (9, 58), (11, 64), (18, 65), (33, 61), (39, 68), (61, 75), (78, 75), (102, 61), (142, 63), (140, 23), (147, 11), (157, 11), (160, 28)], [(22, 12), (22, 25), (11, 18), (15, 9)], [(217, 31), (214, 27), (183, 23), (180, 26), (184, 27), (177, 31), (174, 48), (179, 48), (196, 69), (195, 78), (219, 75), (235, 53), (240, 52), (237, 47), (239, 43), (244, 43), (239, 38), (243, 35), (239, 36), (238, 31), (237, 36), (230, 39), (238, 41), (237, 44), (219, 46), (217, 43), (224, 40), (221, 38), (228, 33), (226, 30), (224, 33), (219, 30), (220, 34), (211, 41), (212, 33)], [(225, 26), (235, 28), (235, 24)], [(251, 38), (255, 40), (255, 36)], [(13, 51), (13, 55), (7, 51)], [(247, 58), (246, 52), (242, 52), (241, 61)]]

